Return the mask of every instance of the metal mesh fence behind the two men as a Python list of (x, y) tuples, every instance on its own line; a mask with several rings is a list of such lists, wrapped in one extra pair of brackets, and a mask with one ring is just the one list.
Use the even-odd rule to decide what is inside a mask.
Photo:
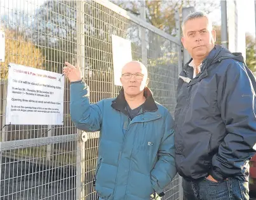
[[(6, 125), (8, 63), (62, 73), (65, 61), (83, 66), (91, 103), (116, 97), (111, 35), (131, 41), (132, 58), (147, 65), (154, 98), (173, 114), (180, 44), (107, 1), (0, 0), (5, 61), (0, 62), (0, 199), (97, 199), (92, 180), (98, 133), (81, 140), (69, 115), (64, 125)], [(142, 56), (142, 55), (145, 55)], [(179, 177), (163, 199), (179, 199)]]

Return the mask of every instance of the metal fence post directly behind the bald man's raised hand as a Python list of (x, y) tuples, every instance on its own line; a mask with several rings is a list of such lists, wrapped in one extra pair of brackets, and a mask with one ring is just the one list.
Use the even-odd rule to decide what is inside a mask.
[[(84, 77), (84, 11), (85, 2), (76, 3), (76, 66), (81, 68)], [(82, 140), (82, 131), (77, 129), (76, 142), (76, 200), (85, 199), (85, 143)]]

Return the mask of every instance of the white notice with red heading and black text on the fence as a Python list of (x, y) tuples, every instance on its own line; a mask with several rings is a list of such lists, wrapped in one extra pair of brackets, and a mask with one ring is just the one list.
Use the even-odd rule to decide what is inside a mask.
[(64, 76), (10, 63), (6, 124), (63, 125)]

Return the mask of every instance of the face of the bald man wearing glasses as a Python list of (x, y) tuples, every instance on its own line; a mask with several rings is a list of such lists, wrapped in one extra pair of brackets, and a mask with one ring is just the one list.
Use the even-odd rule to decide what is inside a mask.
[(138, 63), (129, 63), (123, 67), (121, 83), (125, 93), (129, 96), (137, 96), (144, 91), (147, 81), (147, 72)]

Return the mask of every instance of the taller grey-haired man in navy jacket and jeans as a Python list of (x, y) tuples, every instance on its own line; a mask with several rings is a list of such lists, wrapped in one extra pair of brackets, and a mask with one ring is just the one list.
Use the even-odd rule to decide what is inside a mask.
[(175, 163), (184, 199), (249, 199), (255, 154), (255, 78), (240, 53), (215, 45), (208, 16), (182, 23), (191, 60), (180, 73), (175, 108)]

